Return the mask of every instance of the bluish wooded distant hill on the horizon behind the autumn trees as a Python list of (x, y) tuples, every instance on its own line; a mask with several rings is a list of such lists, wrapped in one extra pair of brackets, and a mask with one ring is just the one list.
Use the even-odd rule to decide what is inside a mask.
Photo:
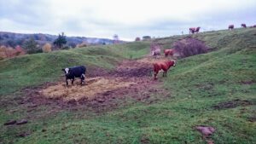
[[(53, 43), (58, 37), (57, 35), (35, 33), (35, 34), (24, 34), (14, 32), (0, 32), (0, 45), (6, 45), (15, 47), (16, 45), (22, 45), (27, 39), (33, 37), (40, 45), (44, 43)], [(97, 38), (97, 37), (67, 37), (67, 45), (75, 47), (79, 43), (95, 44), (112, 44), (112, 39)]]

